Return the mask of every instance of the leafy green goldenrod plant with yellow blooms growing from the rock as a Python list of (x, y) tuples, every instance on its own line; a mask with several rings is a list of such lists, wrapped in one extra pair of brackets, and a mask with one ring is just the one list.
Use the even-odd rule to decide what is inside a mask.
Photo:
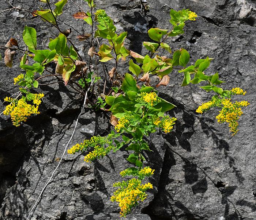
[[(38, 106), (44, 94), (31, 93), (30, 89), (38, 88), (40, 85), (38, 81), (44, 77), (57, 78), (57, 83), (64, 82), (65, 85), (71, 86), (86, 99), (87, 91), (93, 93), (91, 85), (100, 79), (91, 71), (93, 57), (95, 59), (99, 57), (99, 61), (102, 63), (114, 60), (115, 65), (109, 71), (112, 87), (108, 93), (105, 93), (106, 73), (103, 65), (105, 73), (103, 93), (94, 104), (97, 109), (111, 112), (110, 121), (115, 126), (116, 133), (111, 131), (105, 137), (93, 136), (91, 139), (84, 140), (83, 143), (70, 148), (68, 153), (75, 154), (78, 151), (91, 150), (84, 157), (84, 161), (92, 162), (95, 159), (103, 158), (110, 151), (116, 152), (122, 147), (129, 150), (130, 154), (127, 161), (133, 166), (121, 171), (120, 175), (125, 178), (132, 176), (132, 178), (115, 183), (113, 186), (118, 189), (111, 197), (111, 201), (119, 202), (121, 216), (126, 216), (131, 212), (132, 207), (135, 207), (138, 202), (144, 201), (147, 197), (146, 191), (153, 188), (150, 182), (143, 183), (146, 177), (154, 174), (154, 169), (151, 167), (143, 167), (143, 161), (145, 161), (143, 151), (151, 151), (146, 137), (158, 129), (165, 133), (171, 132), (177, 120), (166, 115), (176, 106), (158, 97), (157, 90), (150, 85), (150, 77), (159, 77), (157, 88), (161, 85), (166, 86), (170, 80), (169, 74), (173, 73), (175, 67), (178, 69), (178, 74), (184, 74), (181, 86), (203, 82), (204, 84), (200, 88), (206, 92), (214, 92), (214, 96), (212, 96), (211, 101), (200, 105), (196, 112), (202, 114), (210, 108), (221, 108), (216, 117), (218, 122), (228, 123), (232, 135), (238, 132), (238, 119), (243, 113), (241, 107), (246, 107), (249, 103), (247, 101), (232, 101), (231, 98), (234, 95), (245, 95), (246, 92), (240, 88), (224, 90), (220, 86), (224, 81), (219, 79), (218, 72), (206, 74), (212, 58), (197, 59), (194, 65), (188, 66), (190, 60), (188, 51), (181, 48), (172, 52), (171, 47), (166, 43), (167, 38), (184, 33), (185, 22), (196, 20), (195, 12), (189, 11), (189, 9), (180, 11), (171, 9), (170, 23), (172, 28), (170, 30), (157, 27), (150, 28), (148, 35), (154, 42), (143, 42), (143, 46), (148, 50), (148, 54), (143, 56), (129, 51), (124, 46), (127, 32), (117, 34), (113, 20), (106, 12), (103, 9), (98, 9), (94, 13), (96, 5), (93, 0), (85, 0), (90, 11), (78, 12), (73, 16), (75, 19), (83, 19), (90, 26), (90, 33), (78, 36), (79, 40), (90, 39), (89, 65), (87, 66), (74, 43), (68, 38), (71, 29), (63, 31), (57, 22), (57, 16), (63, 12), (67, 0), (57, 2), (54, 10), (52, 10), (48, 0), (41, 1), (46, 3), (48, 9), (36, 10), (31, 12), (32, 15), (57, 28), (59, 36), (50, 39), (49, 49), (38, 50), (36, 30), (25, 26), (23, 40), (27, 45), (26, 50), (20, 49), (15, 39), (10, 39), (4, 46), (6, 66), (12, 66), (15, 51), (18, 50), (25, 54), (20, 61), (20, 67), (26, 73), (14, 78), (14, 84), (21, 86), (18, 94), (18, 97), (22, 96), (21, 99), (6, 97), (4, 101), (10, 102), (10, 104), (7, 105), (3, 113), (11, 116), (15, 126), (26, 121), (31, 114), (38, 114)], [(96, 31), (94, 31), (95, 25), (97, 25)], [(105, 43), (99, 45), (97, 38), (104, 39)], [(98, 50), (94, 47), (95, 39), (98, 42)], [(166, 50), (170, 57), (161, 56), (160, 48)], [(129, 60), (129, 71), (133, 75), (126, 73), (125, 76), (122, 76), (118, 73), (118, 64), (120, 60), (125, 61), (129, 56), (133, 58)], [(33, 60), (33, 65), (28, 65), (29, 59)], [(50, 63), (55, 63), (55, 72), (48, 69)], [(89, 73), (87, 73), (88, 69)], [(43, 75), (44, 72), (50, 74)], [(36, 77), (37, 74), (39, 74), (38, 77)], [(76, 77), (72, 78), (74, 75)], [(119, 141), (120, 138), (122, 138), (121, 141)]]

